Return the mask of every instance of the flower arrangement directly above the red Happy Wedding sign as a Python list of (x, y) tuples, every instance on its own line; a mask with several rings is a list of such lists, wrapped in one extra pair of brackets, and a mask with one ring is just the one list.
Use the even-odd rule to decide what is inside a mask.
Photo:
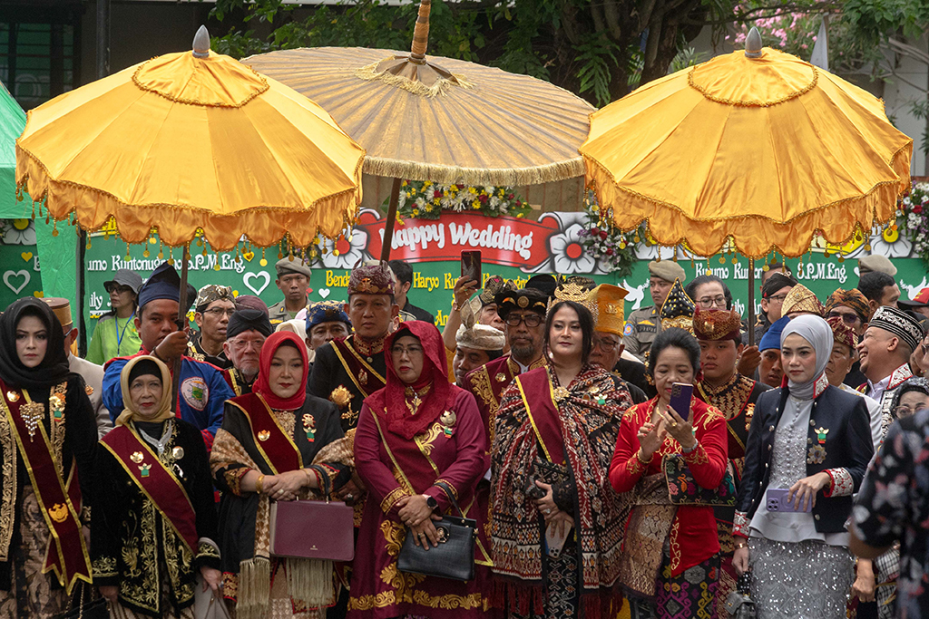
[(442, 211), (522, 218), (530, 213), (531, 207), (512, 187), (468, 187), (409, 180), (400, 185), (397, 216), (401, 221), (409, 217), (438, 219)]

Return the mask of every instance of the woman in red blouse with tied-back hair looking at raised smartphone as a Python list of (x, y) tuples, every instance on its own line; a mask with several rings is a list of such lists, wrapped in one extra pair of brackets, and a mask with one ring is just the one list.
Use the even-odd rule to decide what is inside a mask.
[(721, 560), (713, 508), (672, 504), (663, 467), (665, 458), (683, 459), (693, 481), (707, 490), (726, 473), (723, 414), (696, 398), (689, 410), (671, 406), (674, 383), (692, 388), (699, 369), (694, 337), (684, 329), (662, 330), (648, 355), (658, 395), (622, 417), (609, 481), (635, 501), (621, 561), (633, 619), (716, 616)]

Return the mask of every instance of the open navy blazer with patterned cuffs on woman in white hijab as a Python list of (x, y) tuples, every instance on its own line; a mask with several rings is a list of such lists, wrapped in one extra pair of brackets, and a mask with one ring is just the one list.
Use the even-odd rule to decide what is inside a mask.
[[(748, 524), (765, 500), (774, 434), (788, 394), (787, 387), (772, 389), (762, 393), (755, 404), (748, 445), (745, 446), (745, 469), (736, 502), (734, 532), (739, 535), (749, 535)], [(818, 432), (821, 430), (827, 432)], [(806, 444), (806, 475), (826, 471), (832, 479), (831, 488), (820, 491), (816, 497), (813, 507), (816, 530), (820, 533), (841, 533), (852, 511), (852, 494), (861, 485), (874, 453), (870, 417), (864, 398), (827, 386), (813, 402)], [(825, 454), (817, 447), (825, 449)], [(818, 459), (821, 461), (817, 462)]]

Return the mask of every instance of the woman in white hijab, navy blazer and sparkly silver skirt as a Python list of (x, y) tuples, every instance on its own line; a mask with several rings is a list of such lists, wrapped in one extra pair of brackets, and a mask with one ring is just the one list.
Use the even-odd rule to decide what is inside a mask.
[(733, 565), (751, 569), (761, 619), (843, 617), (855, 579), (845, 522), (874, 450), (868, 408), (826, 379), (825, 320), (794, 318), (780, 348), (787, 384), (755, 405)]

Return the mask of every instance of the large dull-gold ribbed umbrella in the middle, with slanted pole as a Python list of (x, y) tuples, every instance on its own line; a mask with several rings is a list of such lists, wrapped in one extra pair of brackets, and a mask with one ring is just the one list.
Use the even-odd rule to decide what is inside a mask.
[(393, 177), (382, 258), (400, 180), (536, 185), (583, 175), (578, 154), (594, 108), (527, 75), (426, 56), (431, 0), (412, 53), (318, 47), (244, 58), (321, 105), (367, 151), (365, 174)]

